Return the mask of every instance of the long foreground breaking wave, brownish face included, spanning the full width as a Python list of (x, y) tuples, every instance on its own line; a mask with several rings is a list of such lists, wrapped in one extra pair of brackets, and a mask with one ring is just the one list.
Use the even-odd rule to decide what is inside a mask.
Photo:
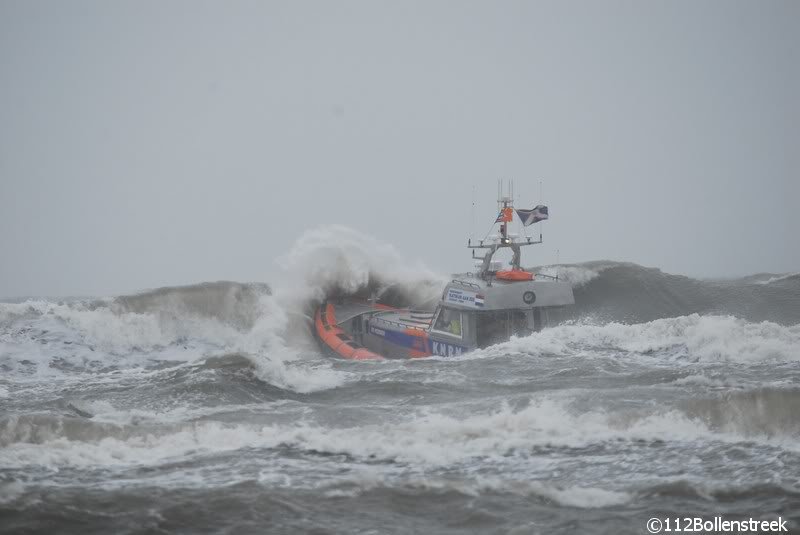
[[(797, 405), (793, 392), (792, 407)], [(410, 420), (354, 427), (300, 421), (286, 424), (228, 424), (198, 420), (175, 424), (121, 425), (48, 415), (0, 419), (3, 466), (51, 467), (159, 464), (186, 456), (242, 448), (289, 448), (315, 455), (347, 455), (370, 462), (454, 466), (483, 459), (528, 458), (542, 448), (639, 447), (652, 441), (737, 444), (759, 441), (797, 449), (797, 426), (783, 419), (753, 427), (743, 407), (725, 400), (684, 409), (579, 411), (563, 400), (533, 398), (521, 408), (502, 404), (490, 412), (455, 415), (428, 412)], [(772, 405), (774, 407), (774, 405)], [(787, 409), (788, 410), (788, 409)], [(708, 418), (706, 416), (712, 415)], [(623, 442), (620, 442), (623, 441)]]

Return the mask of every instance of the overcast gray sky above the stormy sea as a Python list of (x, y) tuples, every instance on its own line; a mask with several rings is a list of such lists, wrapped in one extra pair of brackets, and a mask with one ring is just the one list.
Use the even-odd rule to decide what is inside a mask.
[[(340, 223), (440, 272), (800, 270), (800, 2), (0, 0), (0, 295), (265, 280)], [(525, 207), (525, 206), (521, 206)]]

